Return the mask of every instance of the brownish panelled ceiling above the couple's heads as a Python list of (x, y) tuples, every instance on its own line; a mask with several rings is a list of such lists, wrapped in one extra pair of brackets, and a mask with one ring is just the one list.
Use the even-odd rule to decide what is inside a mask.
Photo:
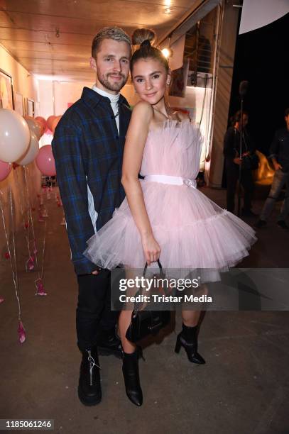
[[(200, 0), (0, 0), (0, 43), (29, 72), (92, 81), (92, 38), (104, 26), (163, 38)], [(52, 78), (52, 77), (50, 77)]]

